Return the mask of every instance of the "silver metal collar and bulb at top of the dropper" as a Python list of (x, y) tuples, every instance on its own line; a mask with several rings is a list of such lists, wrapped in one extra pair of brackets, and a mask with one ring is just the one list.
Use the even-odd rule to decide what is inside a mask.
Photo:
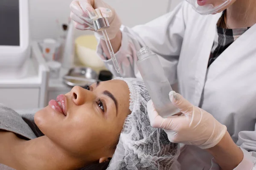
[(103, 31), (107, 28), (109, 28), (109, 23), (108, 23), (108, 19), (105, 17), (102, 17), (102, 14), (100, 12), (100, 10), (97, 8), (95, 9), (98, 18), (96, 20), (93, 21), (93, 26), (95, 31)]

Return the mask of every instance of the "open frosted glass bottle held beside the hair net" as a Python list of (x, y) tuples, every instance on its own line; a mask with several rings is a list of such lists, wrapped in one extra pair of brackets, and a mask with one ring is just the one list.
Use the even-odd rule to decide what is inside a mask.
[(150, 51), (148, 47), (143, 47), (137, 51), (137, 57), (138, 70), (159, 115), (166, 118), (178, 113), (179, 110), (169, 99), (172, 87), (165, 76), (157, 54)]

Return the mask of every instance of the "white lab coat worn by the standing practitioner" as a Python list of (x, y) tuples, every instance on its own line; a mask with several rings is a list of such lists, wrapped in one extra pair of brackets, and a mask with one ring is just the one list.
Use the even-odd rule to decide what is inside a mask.
[[(180, 3), (171, 13), (145, 25), (132, 29), (122, 26), (122, 44), (116, 57), (123, 77), (140, 77), (136, 51), (144, 45), (151, 48), (159, 55), (170, 83), (178, 83), (179, 93), (227, 126), (244, 152), (235, 170), (256, 170), (256, 25), (207, 69), (220, 17), (202, 16), (189, 3)], [(103, 54), (100, 45), (97, 52)], [(119, 76), (111, 60), (104, 62)], [(178, 162), (182, 170), (219, 169), (211, 155), (193, 146), (182, 148)]]

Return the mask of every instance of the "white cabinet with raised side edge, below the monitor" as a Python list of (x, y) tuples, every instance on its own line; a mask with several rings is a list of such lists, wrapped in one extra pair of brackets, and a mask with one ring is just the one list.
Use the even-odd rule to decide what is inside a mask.
[(0, 103), (15, 109), (43, 108), (46, 104), (49, 68), (38, 43), (32, 43), (28, 72), (20, 79), (0, 79)]

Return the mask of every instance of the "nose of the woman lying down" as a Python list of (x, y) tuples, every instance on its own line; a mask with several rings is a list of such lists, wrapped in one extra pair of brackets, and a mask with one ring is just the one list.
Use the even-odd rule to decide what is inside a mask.
[[(85, 94), (87, 90), (85, 90), (84, 88), (81, 88), (80, 86), (75, 86), (71, 89), (71, 97), (73, 102), (76, 105), (82, 105), (85, 102), (85, 98), (88, 97), (89, 94)], [(87, 91), (88, 93), (90, 91)]]

